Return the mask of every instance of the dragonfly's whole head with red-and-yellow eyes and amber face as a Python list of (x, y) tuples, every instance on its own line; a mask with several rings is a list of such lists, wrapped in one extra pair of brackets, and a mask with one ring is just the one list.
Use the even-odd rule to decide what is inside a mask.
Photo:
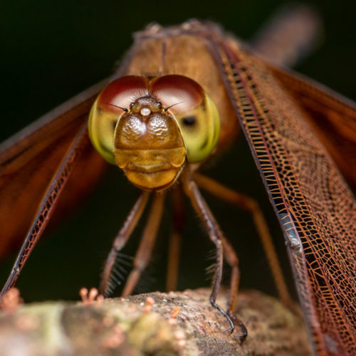
[(100, 93), (89, 133), (100, 155), (132, 184), (158, 191), (176, 181), (187, 161), (209, 156), (219, 137), (219, 115), (194, 80), (130, 75)]

